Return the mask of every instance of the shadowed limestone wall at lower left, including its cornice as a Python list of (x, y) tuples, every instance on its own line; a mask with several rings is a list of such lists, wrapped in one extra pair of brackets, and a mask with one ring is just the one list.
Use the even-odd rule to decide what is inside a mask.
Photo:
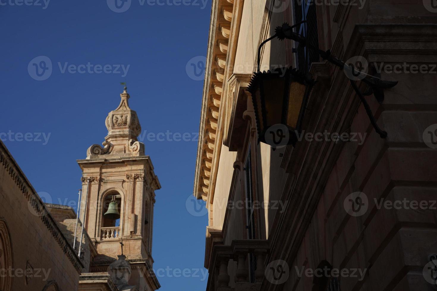
[(35, 190), (0, 142), (0, 217), (7, 225), (12, 253), (12, 266), (2, 268), (13, 269), (8, 271), (11, 290), (40, 291), (50, 284), (57, 284), (60, 290), (77, 290), (82, 265), (34, 195)]

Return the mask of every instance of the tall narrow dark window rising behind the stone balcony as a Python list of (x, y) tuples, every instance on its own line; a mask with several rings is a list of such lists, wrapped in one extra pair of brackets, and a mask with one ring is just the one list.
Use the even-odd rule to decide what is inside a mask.
[[(255, 212), (253, 209), (253, 181), (252, 181), (252, 153), (249, 149), (246, 163), (244, 165), (246, 172), (246, 220), (247, 220), (247, 238), (254, 240), (255, 236)], [(255, 282), (256, 257), (253, 253), (249, 254), (249, 281)]]

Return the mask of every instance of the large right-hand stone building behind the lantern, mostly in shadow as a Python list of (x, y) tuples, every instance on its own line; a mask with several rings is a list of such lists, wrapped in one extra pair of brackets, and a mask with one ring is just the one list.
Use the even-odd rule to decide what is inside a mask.
[[(422, 1), (301, 2), (212, 1), (194, 177), (209, 217), (207, 290), (433, 290), (437, 13)], [(317, 81), (302, 124), (310, 135), (276, 150), (257, 142), (247, 86), (258, 47), (275, 27), (302, 19), (307, 26), (296, 31), (312, 44), (399, 81), (381, 104), (366, 97), (387, 138), (371, 126), (350, 76), (274, 39), (261, 50), (261, 70), (293, 66)], [(422, 65), (429, 72), (418, 72)], [(356, 200), (357, 192), (365, 196)], [(404, 199), (428, 207), (380, 206)]]

